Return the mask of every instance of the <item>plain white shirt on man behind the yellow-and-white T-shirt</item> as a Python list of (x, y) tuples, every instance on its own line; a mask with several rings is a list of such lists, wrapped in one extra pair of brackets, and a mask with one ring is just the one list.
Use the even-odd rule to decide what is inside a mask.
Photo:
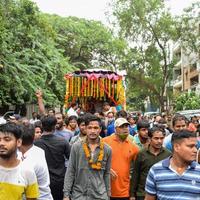
[(40, 193), (38, 200), (53, 200), (49, 187), (49, 171), (44, 151), (41, 148), (33, 145), (24, 153), (24, 155), (21, 156), (23, 162), (27, 163), (29, 166), (32, 166), (35, 171)]

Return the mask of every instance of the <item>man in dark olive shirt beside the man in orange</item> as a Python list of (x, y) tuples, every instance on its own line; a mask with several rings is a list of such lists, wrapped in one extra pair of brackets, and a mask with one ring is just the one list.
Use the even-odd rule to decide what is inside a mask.
[(145, 182), (149, 169), (155, 163), (171, 155), (167, 149), (162, 147), (165, 137), (164, 129), (153, 127), (149, 130), (148, 135), (149, 146), (138, 153), (131, 176), (131, 194), (136, 200), (144, 200)]

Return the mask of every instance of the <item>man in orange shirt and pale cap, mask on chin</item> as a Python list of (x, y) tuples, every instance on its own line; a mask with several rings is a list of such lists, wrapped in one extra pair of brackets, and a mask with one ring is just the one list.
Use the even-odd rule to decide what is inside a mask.
[(125, 118), (116, 119), (114, 126), (115, 134), (103, 139), (112, 148), (110, 200), (129, 200), (131, 163), (139, 150), (127, 138), (129, 122)]

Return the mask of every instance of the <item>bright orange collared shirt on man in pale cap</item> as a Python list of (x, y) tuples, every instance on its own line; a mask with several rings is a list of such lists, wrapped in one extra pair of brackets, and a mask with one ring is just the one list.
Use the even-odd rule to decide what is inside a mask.
[(112, 148), (111, 168), (117, 173), (117, 178), (111, 180), (111, 196), (129, 197), (131, 163), (139, 150), (128, 138), (121, 142), (116, 134), (103, 138), (103, 141)]

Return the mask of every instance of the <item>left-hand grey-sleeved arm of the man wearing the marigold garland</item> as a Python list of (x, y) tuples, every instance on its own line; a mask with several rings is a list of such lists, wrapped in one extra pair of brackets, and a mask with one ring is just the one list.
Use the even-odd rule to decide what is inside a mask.
[(68, 200), (70, 197), (70, 192), (72, 190), (72, 186), (75, 179), (75, 172), (76, 172), (76, 145), (72, 146), (71, 154), (69, 157), (69, 165), (67, 167), (67, 171), (65, 173), (65, 179), (64, 179), (64, 198), (63, 200)]

